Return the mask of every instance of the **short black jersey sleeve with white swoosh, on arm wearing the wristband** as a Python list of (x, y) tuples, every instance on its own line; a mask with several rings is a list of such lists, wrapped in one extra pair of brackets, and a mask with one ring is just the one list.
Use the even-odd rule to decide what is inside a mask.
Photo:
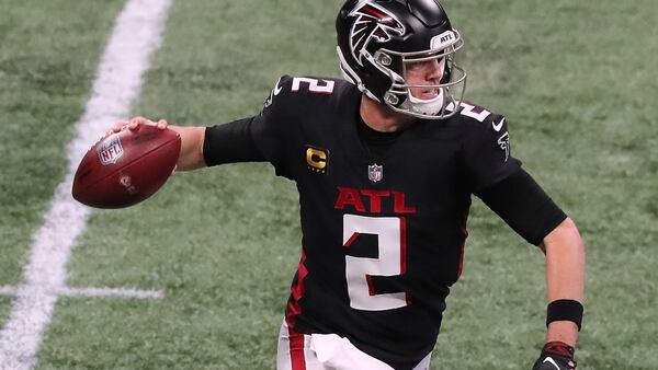
[(500, 182), (521, 166), (512, 157), (503, 116), (490, 114), (481, 122), (468, 119), (464, 124), (464, 158), (474, 192)]

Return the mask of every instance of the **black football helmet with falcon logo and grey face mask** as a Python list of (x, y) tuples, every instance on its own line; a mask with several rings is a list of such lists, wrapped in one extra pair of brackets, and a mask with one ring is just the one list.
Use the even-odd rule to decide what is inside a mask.
[[(348, 0), (336, 20), (343, 77), (368, 97), (420, 118), (446, 118), (460, 106), (466, 72), (454, 54), (464, 45), (436, 0)], [(409, 84), (409, 62), (435, 59), (443, 66), (438, 84)], [(436, 89), (431, 100), (411, 88)]]

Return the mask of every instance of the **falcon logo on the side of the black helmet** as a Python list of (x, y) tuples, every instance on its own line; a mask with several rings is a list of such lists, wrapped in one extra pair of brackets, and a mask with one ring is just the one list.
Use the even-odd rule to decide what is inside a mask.
[(372, 2), (363, 2), (354, 8), (349, 16), (358, 16), (350, 32), (350, 48), (352, 56), (363, 66), (363, 50), (372, 39), (386, 43), (393, 36), (392, 33), (402, 36), (405, 26), (395, 15), (386, 9)]

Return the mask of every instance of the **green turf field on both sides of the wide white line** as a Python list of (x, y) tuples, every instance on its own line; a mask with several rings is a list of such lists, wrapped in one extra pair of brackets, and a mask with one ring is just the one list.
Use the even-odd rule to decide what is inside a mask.
[[(280, 74), (337, 76), (340, 3), (179, 0), (135, 114), (223, 123), (257, 113)], [(444, 4), (466, 39), (467, 99), (506, 114), (514, 155), (587, 243), (579, 369), (658, 369), (657, 8)], [(0, 286), (21, 279), (122, 5), (0, 0)], [(295, 195), (269, 165), (225, 165), (95, 211), (68, 285), (164, 298), (61, 298), (36, 368), (273, 369), (299, 258)], [(468, 227), (432, 369), (530, 369), (545, 331), (543, 255), (477, 200)], [(0, 296), (0, 328), (11, 302)]]

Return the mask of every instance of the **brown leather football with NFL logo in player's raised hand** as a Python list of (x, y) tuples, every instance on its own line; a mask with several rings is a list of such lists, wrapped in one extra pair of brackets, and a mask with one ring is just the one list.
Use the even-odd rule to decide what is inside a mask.
[(72, 196), (95, 208), (124, 208), (156, 193), (175, 167), (181, 138), (171, 129), (139, 125), (101, 138), (73, 176)]

